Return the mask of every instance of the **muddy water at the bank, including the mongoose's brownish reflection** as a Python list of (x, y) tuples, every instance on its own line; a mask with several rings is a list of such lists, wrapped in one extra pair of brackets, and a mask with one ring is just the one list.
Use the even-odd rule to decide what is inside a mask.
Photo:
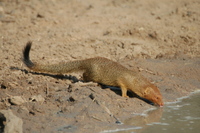
[[(166, 103), (163, 108), (151, 109), (124, 121), (127, 128), (104, 132), (115, 133), (199, 133), (200, 91), (189, 97)], [(123, 127), (123, 126), (121, 126)]]

